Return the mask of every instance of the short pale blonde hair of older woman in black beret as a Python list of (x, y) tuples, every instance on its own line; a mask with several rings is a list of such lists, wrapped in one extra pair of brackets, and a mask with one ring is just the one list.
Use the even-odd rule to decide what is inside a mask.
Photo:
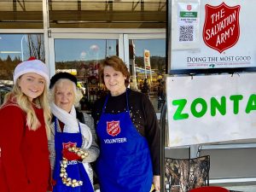
[[(63, 84), (65, 84), (65, 81), (69, 81), (69, 82), (73, 83), (73, 81), (71, 81), (69, 79), (59, 79), (59, 80), (57, 80), (55, 82), (55, 84), (53, 85), (53, 87), (49, 90), (49, 102), (54, 102), (54, 100), (55, 100), (55, 88), (56, 88), (56, 86), (57, 85), (63, 86)], [(75, 107), (77, 107), (79, 105), (80, 100), (83, 97), (83, 94), (82, 94), (81, 90), (79, 90), (79, 88), (74, 83), (73, 83), (73, 88), (74, 88), (74, 96), (75, 96), (73, 105)]]

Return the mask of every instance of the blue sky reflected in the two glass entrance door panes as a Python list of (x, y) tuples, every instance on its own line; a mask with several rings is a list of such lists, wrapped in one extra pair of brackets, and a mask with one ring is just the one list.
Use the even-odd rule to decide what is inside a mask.
[[(150, 55), (165, 56), (165, 42), (165, 39), (136, 40), (136, 55), (143, 56), (144, 49), (148, 49)], [(117, 40), (55, 39), (55, 61), (101, 60), (116, 55), (116, 44)]]

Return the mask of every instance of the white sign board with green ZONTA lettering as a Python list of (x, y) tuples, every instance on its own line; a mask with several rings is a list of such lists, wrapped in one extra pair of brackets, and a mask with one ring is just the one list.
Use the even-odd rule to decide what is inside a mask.
[(256, 138), (256, 73), (168, 77), (169, 147)]

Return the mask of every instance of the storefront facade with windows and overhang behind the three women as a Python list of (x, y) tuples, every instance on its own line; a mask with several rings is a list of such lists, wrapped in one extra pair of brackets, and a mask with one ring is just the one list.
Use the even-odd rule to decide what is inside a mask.
[(167, 67), (166, 1), (0, 3), (1, 102), (13, 84), (15, 66), (34, 56), (49, 65), (51, 76), (61, 71), (76, 75), (84, 92), (81, 108), (90, 111), (104, 92), (97, 74), (99, 62), (110, 55), (125, 61), (134, 89), (142, 90), (148, 79), (150, 98), (159, 111), (158, 95)]

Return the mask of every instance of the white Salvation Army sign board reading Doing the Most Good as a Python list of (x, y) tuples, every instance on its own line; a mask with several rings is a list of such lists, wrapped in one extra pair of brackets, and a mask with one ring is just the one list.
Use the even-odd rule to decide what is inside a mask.
[(172, 0), (171, 70), (256, 67), (255, 8), (251, 0)]

